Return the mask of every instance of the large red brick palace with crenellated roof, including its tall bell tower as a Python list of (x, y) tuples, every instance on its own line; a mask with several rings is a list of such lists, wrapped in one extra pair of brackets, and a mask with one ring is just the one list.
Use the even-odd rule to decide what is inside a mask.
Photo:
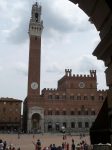
[(104, 102), (106, 91), (97, 90), (96, 71), (89, 75), (72, 75), (66, 69), (57, 89), (43, 89), (40, 94), (41, 6), (32, 6), (29, 24), (28, 93), (24, 101), (25, 132), (88, 132)]

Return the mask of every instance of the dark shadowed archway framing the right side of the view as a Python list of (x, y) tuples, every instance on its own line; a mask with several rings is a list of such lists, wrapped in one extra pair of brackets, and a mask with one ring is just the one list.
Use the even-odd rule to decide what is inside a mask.
[[(111, 0), (70, 0), (78, 4), (99, 31), (101, 42), (95, 48), (93, 55), (103, 60), (106, 82), (109, 90), (100, 113), (90, 129), (92, 144), (112, 144), (112, 5)], [(103, 122), (104, 121), (104, 122)]]

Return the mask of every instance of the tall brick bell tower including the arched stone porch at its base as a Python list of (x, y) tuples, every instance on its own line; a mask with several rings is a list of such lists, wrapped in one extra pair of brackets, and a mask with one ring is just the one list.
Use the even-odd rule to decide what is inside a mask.
[[(23, 129), (25, 132), (43, 130), (43, 109), (38, 106), (40, 101), (40, 66), (41, 66), (41, 6), (36, 2), (32, 6), (29, 23), (29, 69), (28, 90), (23, 108)], [(42, 125), (41, 125), (42, 124)]]

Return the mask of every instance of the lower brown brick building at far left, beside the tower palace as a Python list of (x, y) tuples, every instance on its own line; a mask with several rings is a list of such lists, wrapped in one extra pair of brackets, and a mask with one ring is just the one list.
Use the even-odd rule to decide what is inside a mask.
[(21, 128), (21, 100), (0, 98), (0, 131)]

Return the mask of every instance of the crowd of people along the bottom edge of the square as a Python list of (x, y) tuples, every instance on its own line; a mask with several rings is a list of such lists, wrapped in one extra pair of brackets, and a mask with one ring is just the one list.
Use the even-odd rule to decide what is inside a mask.
[[(20, 138), (20, 136), (19, 136)], [(33, 135), (33, 139), (34, 139), (34, 135)], [(63, 135), (63, 142), (61, 145), (56, 145), (56, 144), (50, 144), (49, 146), (43, 146), (41, 144), (40, 139), (38, 139), (36, 142), (32, 143), (34, 144), (34, 149), (35, 150), (91, 150), (90, 146), (86, 143), (86, 141), (81, 140), (80, 143), (76, 144), (75, 140), (73, 138), (71, 138), (71, 142), (69, 143), (67, 141), (67, 136)], [(7, 144), (6, 141), (3, 141), (2, 139), (0, 139), (0, 150), (20, 150), (20, 147), (15, 147), (12, 144)]]

